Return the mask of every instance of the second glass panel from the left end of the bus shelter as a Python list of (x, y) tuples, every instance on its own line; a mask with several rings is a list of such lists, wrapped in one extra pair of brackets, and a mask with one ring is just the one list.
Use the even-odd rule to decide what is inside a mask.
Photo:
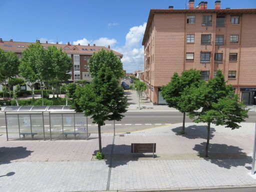
[(30, 127), (30, 115), (29, 114), (19, 114), (19, 127), (20, 127), (20, 138), (21, 139), (31, 139), (31, 127)]

